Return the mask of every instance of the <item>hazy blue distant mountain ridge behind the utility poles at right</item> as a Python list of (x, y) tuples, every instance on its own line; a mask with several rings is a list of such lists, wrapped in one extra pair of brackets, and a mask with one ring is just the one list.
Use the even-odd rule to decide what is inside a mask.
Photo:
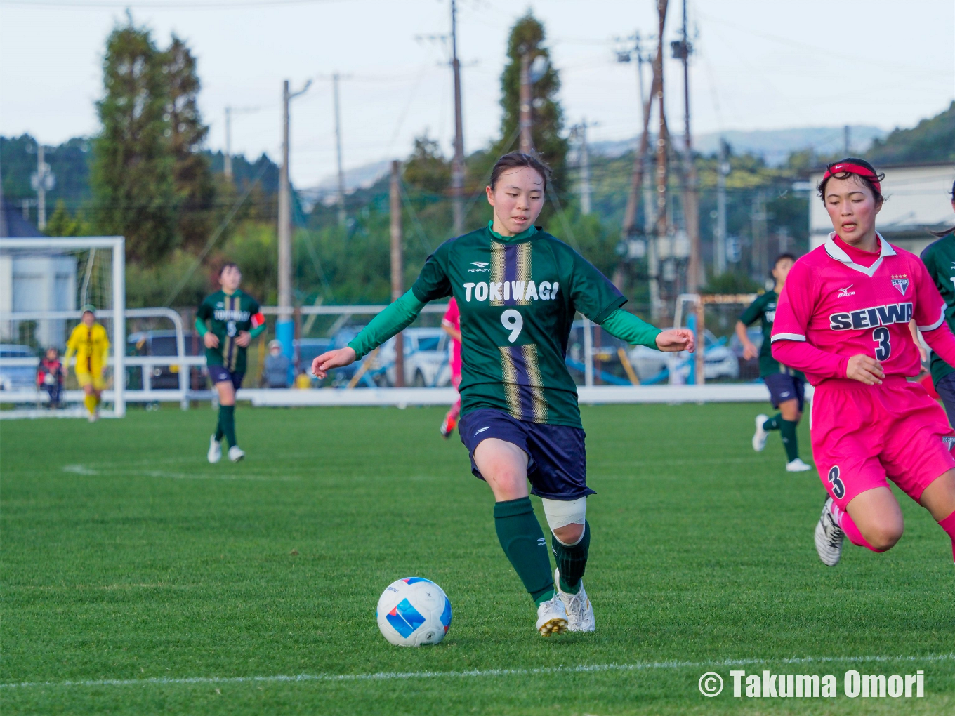
[[(874, 139), (885, 137), (885, 131), (870, 125), (849, 127), (849, 146), (853, 152), (865, 152)], [(793, 152), (812, 149), (816, 154), (829, 155), (841, 152), (845, 145), (843, 127), (794, 127), (775, 130), (729, 130), (709, 132), (693, 137), (693, 149), (703, 155), (719, 151), (720, 137), (732, 146), (733, 154), (750, 154), (761, 157), (769, 166), (780, 166)], [(681, 143), (682, 137), (673, 137)], [(634, 149), (639, 137), (622, 141), (598, 141), (591, 145), (594, 153), (605, 157), (620, 157)]]

